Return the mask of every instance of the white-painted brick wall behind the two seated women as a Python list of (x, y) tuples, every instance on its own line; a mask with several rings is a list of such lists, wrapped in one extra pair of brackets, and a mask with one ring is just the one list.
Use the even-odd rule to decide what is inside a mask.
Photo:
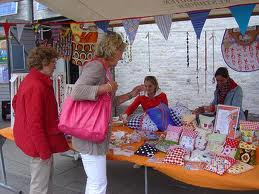
[[(249, 25), (258, 25), (259, 17), (252, 17)], [(199, 74), (197, 85), (196, 72), (196, 36), (190, 21), (172, 23), (168, 40), (164, 40), (156, 24), (139, 26), (132, 47), (133, 61), (120, 62), (116, 67), (116, 80), (119, 83), (118, 94), (129, 91), (141, 84), (146, 75), (155, 75), (160, 88), (168, 95), (170, 104), (181, 102), (189, 108), (208, 104), (213, 99), (215, 84), (212, 83), (212, 30), (215, 30), (215, 70), (226, 66), (221, 54), (221, 42), (225, 28), (237, 27), (234, 18), (207, 20), (199, 43)], [(124, 33), (123, 28), (116, 31)], [(205, 92), (204, 32), (207, 31), (208, 43), (208, 78)], [(190, 67), (186, 65), (186, 31), (189, 31)], [(149, 54), (147, 33), (150, 33), (151, 72), (149, 72)], [(259, 113), (259, 72), (240, 73), (229, 69), (230, 76), (243, 88), (243, 108), (250, 113)], [(199, 93), (198, 93), (199, 88)], [(121, 105), (119, 112), (128, 103)]]

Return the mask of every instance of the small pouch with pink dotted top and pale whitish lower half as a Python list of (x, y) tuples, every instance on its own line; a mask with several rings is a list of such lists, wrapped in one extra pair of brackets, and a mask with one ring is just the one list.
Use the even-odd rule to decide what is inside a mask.
[(179, 144), (189, 151), (194, 150), (197, 134), (197, 131), (183, 129)]

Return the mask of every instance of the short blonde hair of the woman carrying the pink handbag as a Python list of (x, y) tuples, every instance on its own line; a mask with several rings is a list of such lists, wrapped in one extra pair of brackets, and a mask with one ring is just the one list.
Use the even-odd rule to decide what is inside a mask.
[(120, 34), (108, 32), (96, 47), (95, 56), (100, 58), (112, 58), (117, 50), (124, 51), (126, 43)]

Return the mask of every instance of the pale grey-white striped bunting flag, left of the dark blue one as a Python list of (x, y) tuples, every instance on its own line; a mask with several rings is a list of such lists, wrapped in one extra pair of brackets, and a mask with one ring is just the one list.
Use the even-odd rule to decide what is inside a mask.
[(163, 34), (164, 38), (167, 40), (171, 24), (172, 24), (172, 16), (171, 15), (161, 15), (161, 16), (155, 16), (155, 21), (157, 23), (157, 26), (160, 30), (160, 32)]

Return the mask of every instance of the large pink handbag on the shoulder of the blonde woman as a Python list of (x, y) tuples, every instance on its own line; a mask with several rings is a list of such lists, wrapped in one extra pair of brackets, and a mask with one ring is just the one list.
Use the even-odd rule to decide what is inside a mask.
[(63, 104), (58, 127), (79, 139), (102, 143), (107, 137), (111, 112), (112, 96), (109, 93), (98, 96), (97, 101), (74, 101), (69, 96)]

